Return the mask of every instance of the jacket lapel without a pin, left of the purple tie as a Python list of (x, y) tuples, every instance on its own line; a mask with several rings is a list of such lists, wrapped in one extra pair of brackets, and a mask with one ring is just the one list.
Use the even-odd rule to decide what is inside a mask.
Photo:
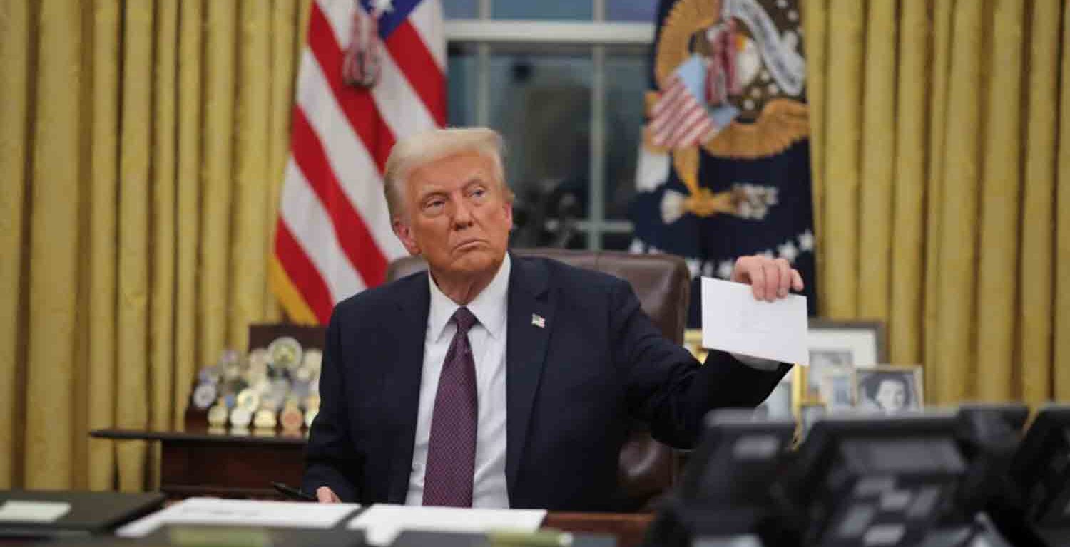
[(398, 337), (398, 359), (396, 362), (381, 363), (389, 371), (383, 393), (389, 393), (385, 402), (393, 407), (385, 418), (394, 421), (385, 439), (391, 449), (387, 490), (391, 503), (404, 503), (409, 491), (416, 419), (419, 415), (419, 381), (424, 372), (424, 339), (431, 307), (427, 274), (416, 276), (411, 281), (411, 284), (403, 285), (404, 290), (397, 300), (399, 323), (389, 326), (391, 331)]

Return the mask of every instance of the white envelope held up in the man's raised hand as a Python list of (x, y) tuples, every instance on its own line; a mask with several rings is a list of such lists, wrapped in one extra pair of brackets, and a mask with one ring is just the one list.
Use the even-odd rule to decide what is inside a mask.
[(702, 346), (809, 364), (806, 297), (754, 299), (750, 285), (702, 278)]

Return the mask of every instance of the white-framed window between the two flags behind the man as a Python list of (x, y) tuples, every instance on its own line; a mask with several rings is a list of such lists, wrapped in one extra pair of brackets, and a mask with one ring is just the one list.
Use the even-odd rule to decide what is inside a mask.
[[(518, 246), (627, 249), (657, 2), (446, 0), (449, 125), (506, 140)], [(596, 158), (597, 160), (593, 160)]]

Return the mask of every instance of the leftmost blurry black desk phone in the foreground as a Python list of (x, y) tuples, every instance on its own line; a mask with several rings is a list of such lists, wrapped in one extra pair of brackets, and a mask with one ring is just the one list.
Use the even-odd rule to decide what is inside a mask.
[(652, 545), (718, 545), (774, 533), (770, 485), (791, 448), (795, 422), (715, 410), (676, 490), (647, 534)]

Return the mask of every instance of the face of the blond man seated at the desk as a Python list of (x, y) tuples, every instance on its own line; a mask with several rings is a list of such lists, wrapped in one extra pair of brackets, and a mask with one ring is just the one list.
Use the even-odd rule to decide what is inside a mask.
[(475, 152), (421, 166), (409, 174), (394, 233), (432, 272), (498, 271), (513, 229), (513, 203), (502, 186), (491, 159)]

